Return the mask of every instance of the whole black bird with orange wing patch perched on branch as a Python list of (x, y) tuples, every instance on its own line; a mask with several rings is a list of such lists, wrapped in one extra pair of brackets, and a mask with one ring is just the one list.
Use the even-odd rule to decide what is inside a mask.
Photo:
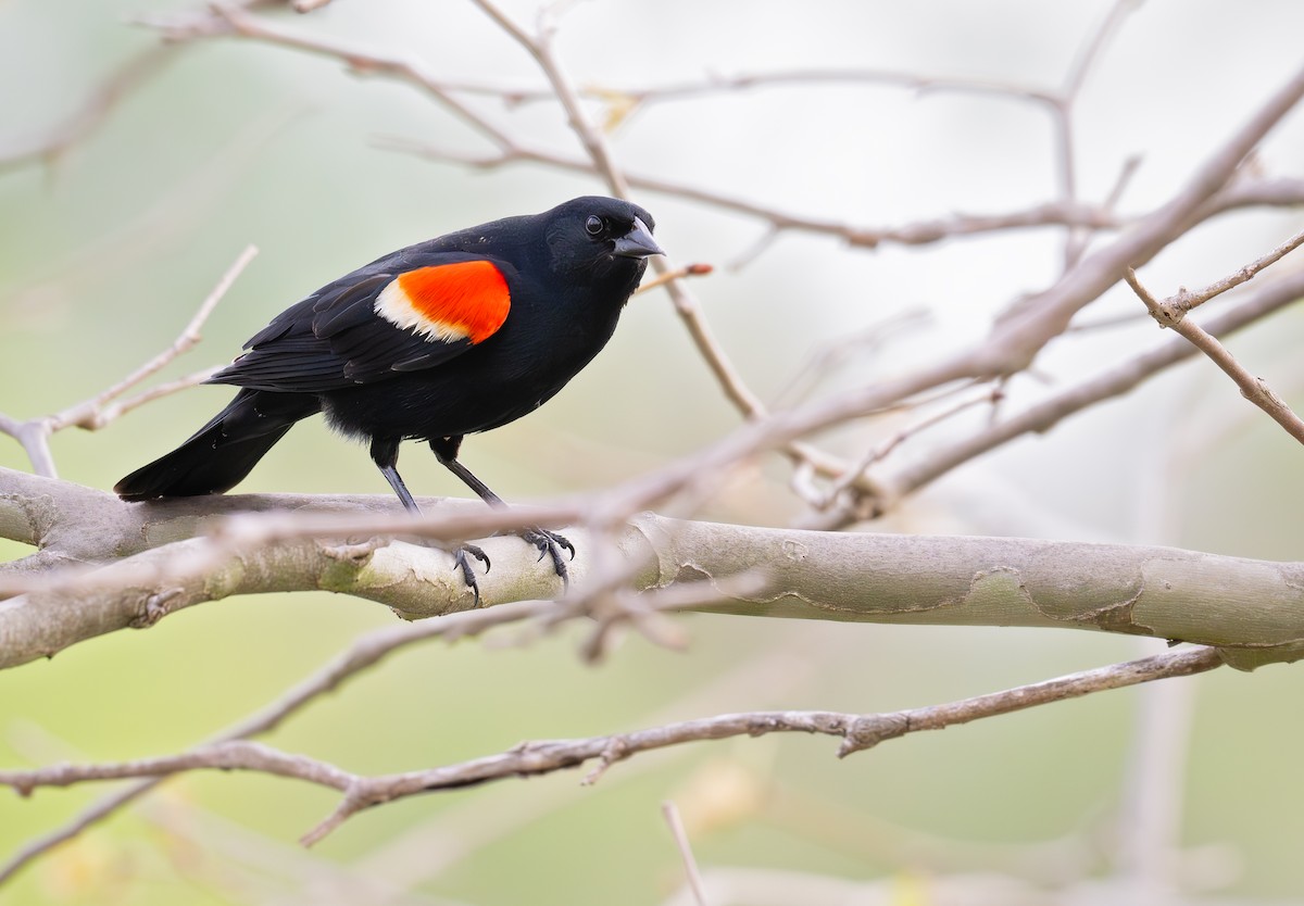
[[(220, 494), (300, 418), (325, 412), (370, 442), (403, 506), (399, 442), (434, 455), (490, 506), (502, 501), (458, 461), (464, 434), (533, 412), (606, 345), (647, 267), (662, 254), (636, 205), (575, 198), (411, 245), (286, 309), (209, 383), (240, 387), (194, 437), (113, 489), (126, 501)], [(524, 529), (566, 576), (562, 536)], [(476, 591), (467, 545), (458, 566)]]

